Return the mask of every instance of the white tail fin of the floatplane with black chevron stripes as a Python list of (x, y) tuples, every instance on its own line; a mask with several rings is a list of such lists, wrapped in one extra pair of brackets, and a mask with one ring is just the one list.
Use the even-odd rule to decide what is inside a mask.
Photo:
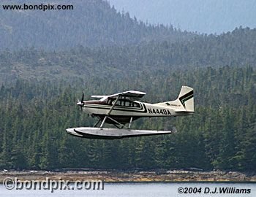
[(168, 102), (170, 106), (177, 108), (177, 112), (194, 111), (194, 90), (188, 86), (182, 86), (178, 99)]

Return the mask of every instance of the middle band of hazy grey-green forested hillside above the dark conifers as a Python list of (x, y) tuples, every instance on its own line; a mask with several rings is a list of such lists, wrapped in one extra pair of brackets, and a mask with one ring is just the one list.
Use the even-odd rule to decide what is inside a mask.
[(207, 66), (256, 66), (256, 29), (236, 28), (220, 36), (197, 36), (187, 42), (147, 42), (136, 46), (77, 47), (65, 52), (3, 50), (0, 82), (20, 77), (34, 80), (69, 81), (140, 76), (143, 72), (193, 69)]

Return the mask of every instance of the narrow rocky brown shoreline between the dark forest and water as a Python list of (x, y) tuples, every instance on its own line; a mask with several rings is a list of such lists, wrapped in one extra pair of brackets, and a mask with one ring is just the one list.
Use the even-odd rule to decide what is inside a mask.
[(69, 182), (102, 180), (104, 182), (256, 182), (256, 174), (237, 171), (0, 171), (0, 183), (7, 177), (22, 181), (64, 180)]

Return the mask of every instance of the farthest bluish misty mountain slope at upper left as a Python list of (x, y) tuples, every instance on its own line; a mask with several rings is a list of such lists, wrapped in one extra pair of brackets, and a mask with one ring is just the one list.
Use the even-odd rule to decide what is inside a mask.
[[(48, 1), (12, 1), (12, 4)], [(117, 12), (102, 0), (51, 1), (72, 4), (73, 10), (4, 10), (0, 9), (0, 49), (36, 47), (63, 50), (84, 47), (138, 44), (167, 39), (171, 42), (188, 39), (192, 34), (172, 27), (146, 26), (128, 13)], [(0, 4), (10, 4), (1, 1)]]

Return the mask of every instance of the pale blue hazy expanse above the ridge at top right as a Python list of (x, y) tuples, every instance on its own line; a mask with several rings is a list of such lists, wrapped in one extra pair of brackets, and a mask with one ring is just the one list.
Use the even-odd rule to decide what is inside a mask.
[(108, 0), (118, 11), (151, 24), (172, 24), (197, 33), (256, 28), (256, 0)]

